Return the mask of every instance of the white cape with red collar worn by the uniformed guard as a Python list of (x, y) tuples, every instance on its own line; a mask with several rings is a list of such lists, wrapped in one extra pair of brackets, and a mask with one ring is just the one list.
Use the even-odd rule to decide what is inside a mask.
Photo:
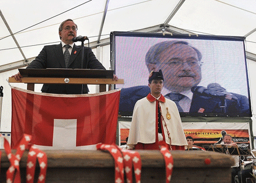
[[(162, 115), (167, 124), (166, 128), (164, 120), (162, 120), (166, 143), (170, 144), (167, 134), (168, 129), (171, 137), (171, 145), (187, 145), (187, 140), (184, 135), (183, 126), (181, 123), (181, 117), (179, 116), (179, 111), (175, 102), (165, 98), (163, 95), (160, 96), (159, 101)], [(168, 113), (171, 115), (170, 120), (167, 120), (167, 107)], [(154, 98), (150, 93), (147, 97), (142, 98), (136, 102), (134, 113), (132, 115), (128, 145), (136, 145), (138, 142), (156, 142), (156, 111), (156, 98)]]

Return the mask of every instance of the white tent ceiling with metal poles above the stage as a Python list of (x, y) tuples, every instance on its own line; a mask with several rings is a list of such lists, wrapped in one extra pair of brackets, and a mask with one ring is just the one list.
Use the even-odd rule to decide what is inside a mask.
[(0, 73), (59, 42), (59, 24), (67, 18), (94, 45), (111, 31), (157, 32), (164, 25), (171, 32), (246, 37), (248, 55), (256, 55), (255, 0), (4, 0), (0, 9)]

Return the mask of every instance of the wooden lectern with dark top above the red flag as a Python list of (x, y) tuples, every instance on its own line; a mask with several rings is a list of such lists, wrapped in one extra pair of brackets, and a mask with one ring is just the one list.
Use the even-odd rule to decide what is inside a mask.
[[(94, 84), (100, 85), (100, 92), (106, 91), (107, 84), (124, 84), (124, 79), (113, 81), (113, 70), (85, 69), (19, 69), (22, 83), (28, 84), (27, 89), (34, 91), (34, 84)], [(9, 82), (16, 81), (9, 77)]]

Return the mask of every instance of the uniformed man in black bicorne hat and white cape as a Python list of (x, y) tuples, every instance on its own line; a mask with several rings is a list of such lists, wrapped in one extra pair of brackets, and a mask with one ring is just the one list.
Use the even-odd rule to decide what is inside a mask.
[(151, 71), (148, 82), (151, 92), (135, 104), (127, 144), (134, 149), (159, 149), (161, 142), (170, 149), (184, 150), (187, 140), (178, 108), (161, 94), (162, 71)]

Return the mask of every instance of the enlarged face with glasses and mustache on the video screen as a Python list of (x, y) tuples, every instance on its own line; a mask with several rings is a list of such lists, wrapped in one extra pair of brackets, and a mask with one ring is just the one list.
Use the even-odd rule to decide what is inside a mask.
[(162, 70), (164, 85), (171, 91), (190, 90), (201, 81), (197, 52), (188, 45), (175, 44), (159, 54), (156, 70)]

